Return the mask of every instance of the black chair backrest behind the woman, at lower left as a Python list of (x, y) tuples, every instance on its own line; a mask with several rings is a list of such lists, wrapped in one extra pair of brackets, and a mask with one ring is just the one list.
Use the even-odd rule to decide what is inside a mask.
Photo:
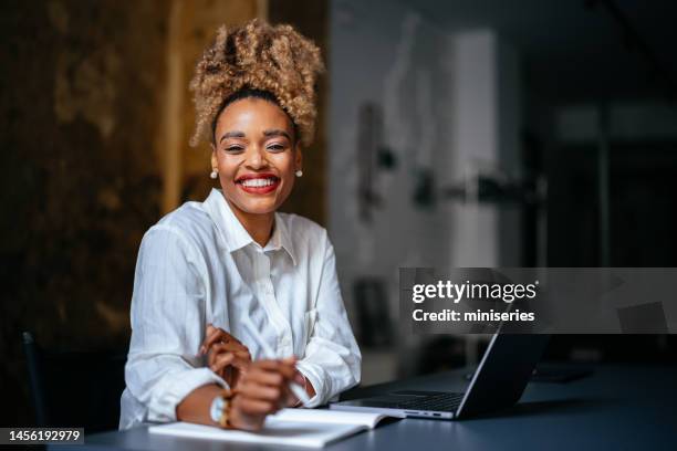
[(39, 427), (117, 429), (125, 388), (126, 350), (63, 352), (23, 333), (23, 349)]

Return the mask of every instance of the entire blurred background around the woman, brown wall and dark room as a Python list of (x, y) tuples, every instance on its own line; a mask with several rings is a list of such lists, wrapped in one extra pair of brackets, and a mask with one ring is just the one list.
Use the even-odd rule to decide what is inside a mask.
[[(219, 24), (321, 46), (317, 138), (288, 211), (329, 229), (366, 384), (472, 363), (403, 340), (399, 266), (675, 266), (677, 3), (101, 0), (0, 4), (0, 387), (30, 424), (22, 331), (125, 348), (143, 233), (201, 200), (188, 92)], [(674, 361), (671, 336), (556, 337), (549, 357)]]

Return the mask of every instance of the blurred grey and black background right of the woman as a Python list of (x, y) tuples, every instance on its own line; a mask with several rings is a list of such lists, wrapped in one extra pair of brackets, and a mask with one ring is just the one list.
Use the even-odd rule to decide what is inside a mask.
[[(331, 2), (330, 232), (368, 382), (473, 363), (396, 331), (399, 266), (670, 266), (674, 2)], [(378, 324), (378, 327), (374, 327)], [(673, 337), (549, 357), (675, 360)]]

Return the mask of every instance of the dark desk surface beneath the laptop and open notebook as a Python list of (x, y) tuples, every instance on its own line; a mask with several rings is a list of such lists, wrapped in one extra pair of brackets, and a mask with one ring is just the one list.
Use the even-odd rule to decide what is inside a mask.
[[(462, 389), (451, 371), (361, 389)], [(490, 417), (395, 420), (327, 447), (344, 450), (677, 450), (677, 366), (603, 366), (569, 384), (530, 384), (520, 403)], [(65, 449), (66, 447), (58, 447)], [(271, 450), (275, 447), (150, 436), (145, 428), (85, 437), (73, 450)], [(277, 447), (281, 449), (280, 447)], [(290, 448), (284, 448), (290, 449)]]

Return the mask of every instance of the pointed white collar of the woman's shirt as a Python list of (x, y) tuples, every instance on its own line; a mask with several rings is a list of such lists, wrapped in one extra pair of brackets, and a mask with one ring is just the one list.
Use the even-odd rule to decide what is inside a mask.
[[(247, 232), (240, 220), (235, 216), (220, 189), (212, 188), (202, 204), (207, 214), (209, 214), (211, 220), (216, 223), (229, 252), (235, 252), (250, 244), (258, 245), (249, 232)], [(273, 228), (273, 234), (263, 248), (263, 251), (284, 249), (295, 265), (296, 258), (294, 255), (291, 237), (279, 213), (275, 213)]]

